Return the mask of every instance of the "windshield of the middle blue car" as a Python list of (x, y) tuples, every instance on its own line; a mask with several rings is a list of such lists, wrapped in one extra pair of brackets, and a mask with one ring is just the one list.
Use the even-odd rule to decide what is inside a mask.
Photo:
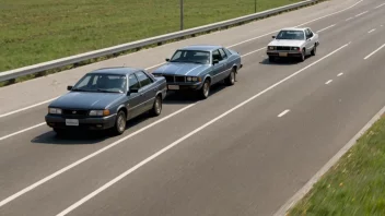
[(210, 52), (199, 50), (177, 50), (170, 62), (210, 63)]

